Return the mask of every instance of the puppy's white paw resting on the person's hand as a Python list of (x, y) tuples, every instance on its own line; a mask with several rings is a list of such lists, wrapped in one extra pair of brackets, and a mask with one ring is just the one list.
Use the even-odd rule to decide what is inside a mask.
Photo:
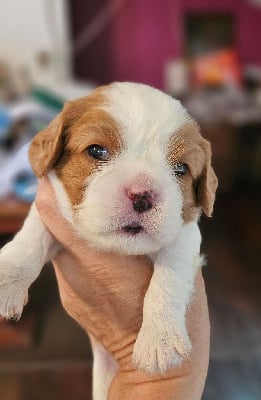
[(142, 326), (133, 350), (133, 362), (148, 374), (164, 374), (178, 367), (188, 357), (191, 342), (186, 330), (183, 335), (173, 330), (152, 331)]

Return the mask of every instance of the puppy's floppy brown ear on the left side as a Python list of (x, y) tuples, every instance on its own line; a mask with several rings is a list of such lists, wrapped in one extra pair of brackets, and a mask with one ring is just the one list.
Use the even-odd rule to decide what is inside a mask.
[(62, 113), (31, 142), (29, 160), (35, 175), (42, 178), (58, 160), (63, 147), (63, 117)]

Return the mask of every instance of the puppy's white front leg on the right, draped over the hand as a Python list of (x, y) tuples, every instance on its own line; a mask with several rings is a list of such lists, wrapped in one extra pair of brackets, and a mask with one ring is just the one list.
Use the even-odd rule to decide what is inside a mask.
[(165, 373), (188, 356), (191, 343), (186, 310), (202, 263), (196, 223), (184, 225), (167, 249), (154, 258), (154, 273), (144, 299), (143, 323), (133, 359), (147, 373)]

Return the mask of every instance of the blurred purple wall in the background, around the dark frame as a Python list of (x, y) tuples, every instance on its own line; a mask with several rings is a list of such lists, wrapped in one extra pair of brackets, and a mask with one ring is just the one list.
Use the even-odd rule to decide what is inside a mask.
[(191, 12), (233, 13), (241, 61), (261, 65), (261, 8), (247, 0), (127, 0), (113, 28), (115, 78), (162, 88), (166, 61), (182, 56), (184, 15)]

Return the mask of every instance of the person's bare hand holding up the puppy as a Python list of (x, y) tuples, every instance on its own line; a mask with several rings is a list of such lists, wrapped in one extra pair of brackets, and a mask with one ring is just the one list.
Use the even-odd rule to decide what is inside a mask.
[(209, 355), (209, 321), (201, 273), (187, 313), (193, 346), (189, 358), (166, 375), (149, 376), (135, 369), (132, 352), (153, 272), (151, 262), (146, 257), (98, 252), (88, 246), (60, 215), (47, 179), (40, 182), (36, 206), (64, 248), (56, 256), (54, 267), (65, 310), (118, 362), (108, 399), (200, 399)]

